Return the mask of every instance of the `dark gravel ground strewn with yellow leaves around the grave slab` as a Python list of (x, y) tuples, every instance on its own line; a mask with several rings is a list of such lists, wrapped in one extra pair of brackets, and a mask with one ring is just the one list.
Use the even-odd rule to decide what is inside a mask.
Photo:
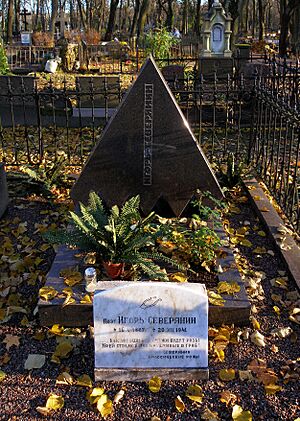
[[(299, 293), (242, 187), (228, 194), (223, 225), (251, 301), (250, 324), (209, 327), (208, 381), (161, 384), (95, 383), (93, 329), (39, 325), (39, 289), (55, 256), (41, 233), (65, 223), (72, 204), (66, 190), (53, 190), (49, 201), (20, 197), (20, 189), (17, 198), (9, 188), (0, 221), (0, 419), (299, 419)], [(97, 409), (101, 394), (111, 406), (99, 400)]]

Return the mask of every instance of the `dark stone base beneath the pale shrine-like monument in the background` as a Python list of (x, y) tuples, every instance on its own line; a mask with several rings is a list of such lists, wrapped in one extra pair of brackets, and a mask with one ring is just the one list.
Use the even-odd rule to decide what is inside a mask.
[(199, 72), (204, 77), (214, 77), (214, 72), (218, 78), (227, 78), (233, 74), (233, 59), (227, 57), (201, 57), (199, 60)]

